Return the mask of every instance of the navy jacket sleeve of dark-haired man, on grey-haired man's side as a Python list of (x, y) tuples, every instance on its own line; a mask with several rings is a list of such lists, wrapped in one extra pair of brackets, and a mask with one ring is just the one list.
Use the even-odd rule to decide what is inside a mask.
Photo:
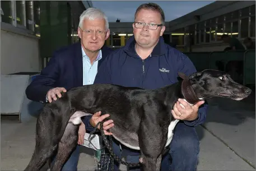
[[(94, 84), (111, 84), (109, 56), (101, 63), (99, 70), (97, 71)], [(94, 127), (90, 124), (91, 117), (92, 116), (85, 116), (82, 119), (87, 131), (94, 130)]]

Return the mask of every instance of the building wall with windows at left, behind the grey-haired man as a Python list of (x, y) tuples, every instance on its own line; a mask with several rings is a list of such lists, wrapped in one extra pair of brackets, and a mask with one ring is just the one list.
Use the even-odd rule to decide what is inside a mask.
[(46, 57), (78, 40), (91, 1), (1, 1), (1, 74), (40, 72)]

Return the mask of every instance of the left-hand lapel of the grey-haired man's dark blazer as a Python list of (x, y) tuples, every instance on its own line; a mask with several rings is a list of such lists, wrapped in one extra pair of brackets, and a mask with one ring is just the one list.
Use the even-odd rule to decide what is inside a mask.
[(81, 43), (77, 43), (75, 46), (75, 56), (73, 58), (73, 66), (75, 70), (75, 86), (83, 85), (83, 60), (82, 60), (82, 47)]

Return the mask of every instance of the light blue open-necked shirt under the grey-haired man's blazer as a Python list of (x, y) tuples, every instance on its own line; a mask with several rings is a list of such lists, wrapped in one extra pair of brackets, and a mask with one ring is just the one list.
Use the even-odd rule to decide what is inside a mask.
[[(82, 47), (81, 47), (82, 48)], [(83, 85), (94, 84), (94, 80), (98, 70), (98, 62), (102, 58), (101, 50), (96, 60), (91, 64), (90, 58), (86, 55), (82, 48), (83, 55)]]

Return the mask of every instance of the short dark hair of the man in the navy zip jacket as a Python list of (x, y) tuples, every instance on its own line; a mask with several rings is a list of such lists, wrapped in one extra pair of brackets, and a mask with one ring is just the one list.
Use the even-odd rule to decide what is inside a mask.
[(164, 14), (164, 11), (162, 11), (162, 8), (156, 4), (156, 3), (143, 3), (141, 4), (137, 9), (136, 9), (136, 12), (135, 12), (135, 15), (134, 15), (134, 19), (136, 18), (136, 15), (137, 13), (141, 10), (141, 9), (150, 9), (152, 11), (156, 11), (158, 13), (161, 14), (161, 21), (162, 21), (162, 25), (165, 25), (165, 14)]

